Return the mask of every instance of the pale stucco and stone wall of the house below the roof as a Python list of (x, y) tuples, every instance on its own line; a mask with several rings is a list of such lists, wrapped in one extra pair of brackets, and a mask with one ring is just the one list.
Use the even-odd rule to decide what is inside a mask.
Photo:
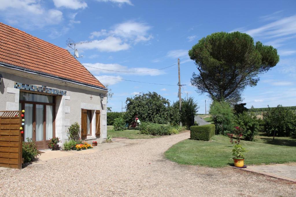
[[(46, 86), (67, 91), (66, 96), (56, 96), (55, 106), (55, 135), (62, 140), (61, 145), (68, 141), (67, 130), (74, 122), (81, 125), (81, 109), (92, 110), (92, 135), (88, 136), (85, 141), (91, 143), (98, 141), (103, 143), (107, 138), (107, 108), (106, 93), (107, 91), (99, 90), (83, 85), (73, 84), (50, 77), (44, 77), (36, 74), (15, 71), (0, 66), (0, 73), (3, 76), (3, 82), (0, 86), (0, 111), (18, 110), (20, 89), (14, 88), (14, 83), (24, 83), (29, 85)], [(101, 101), (100, 94), (104, 96)], [(92, 98), (90, 98), (92, 96)], [(101, 133), (100, 137), (95, 135), (95, 114), (94, 110), (101, 110)]]

